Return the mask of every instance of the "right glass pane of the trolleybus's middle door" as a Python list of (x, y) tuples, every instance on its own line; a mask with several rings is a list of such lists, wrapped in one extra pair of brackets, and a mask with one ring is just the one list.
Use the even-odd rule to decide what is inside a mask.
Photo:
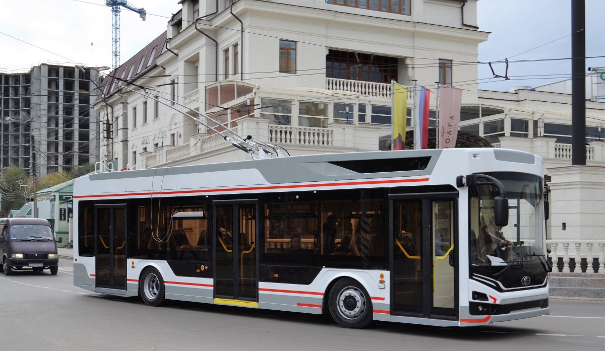
[(256, 242), (257, 221), (256, 206), (247, 205), (240, 207), (239, 239), (240, 243), (240, 294), (239, 298), (257, 297), (257, 274), (256, 274)]

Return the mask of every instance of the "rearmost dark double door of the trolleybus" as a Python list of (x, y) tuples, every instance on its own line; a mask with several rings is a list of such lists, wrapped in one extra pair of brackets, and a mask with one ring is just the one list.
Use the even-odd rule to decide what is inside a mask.
[(96, 205), (96, 287), (126, 291), (126, 205)]

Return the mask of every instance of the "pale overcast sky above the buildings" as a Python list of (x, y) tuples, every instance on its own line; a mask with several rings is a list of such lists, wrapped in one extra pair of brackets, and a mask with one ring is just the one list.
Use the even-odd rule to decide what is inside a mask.
[[(479, 62), (508, 58), (511, 80), (492, 79), (489, 66), (479, 64), (479, 88), (508, 91), (568, 78), (569, 60), (544, 60), (571, 57), (571, 1), (480, 0), (479, 27), (491, 34), (479, 45)], [(177, 0), (129, 2), (145, 7), (147, 18), (122, 9), (121, 62), (162, 34), (180, 8)], [(586, 8), (586, 56), (605, 56), (605, 0), (586, 0)], [(0, 48), (0, 72), (41, 63), (111, 66), (111, 8), (105, 0), (0, 0)], [(586, 66), (605, 66), (605, 57), (588, 59)], [(494, 69), (505, 75), (504, 64)]]

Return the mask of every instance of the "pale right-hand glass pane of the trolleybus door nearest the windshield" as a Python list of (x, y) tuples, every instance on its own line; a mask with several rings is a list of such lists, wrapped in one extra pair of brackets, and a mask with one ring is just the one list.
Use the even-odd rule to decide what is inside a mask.
[(433, 307), (454, 308), (454, 204), (434, 201), (431, 211), (433, 236)]

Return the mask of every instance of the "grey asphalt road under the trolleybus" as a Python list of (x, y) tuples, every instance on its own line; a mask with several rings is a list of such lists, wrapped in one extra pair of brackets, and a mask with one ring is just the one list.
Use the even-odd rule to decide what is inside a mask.
[(76, 288), (58, 275), (0, 274), (0, 350), (605, 350), (605, 302), (551, 300), (551, 315), (473, 328), (377, 323), (174, 302), (151, 308)]

